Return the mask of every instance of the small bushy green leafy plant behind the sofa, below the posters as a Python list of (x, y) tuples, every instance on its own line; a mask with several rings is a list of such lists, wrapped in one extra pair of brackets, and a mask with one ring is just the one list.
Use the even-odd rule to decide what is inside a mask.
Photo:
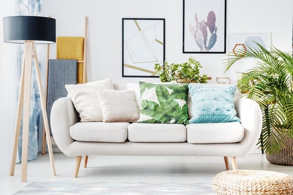
[(167, 61), (163, 64), (157, 63), (154, 70), (159, 73), (162, 82), (186, 79), (187, 82), (206, 83), (208, 76), (200, 76), (200, 68), (202, 68), (200, 62), (193, 57), (189, 57), (187, 62), (181, 64), (169, 64)]

